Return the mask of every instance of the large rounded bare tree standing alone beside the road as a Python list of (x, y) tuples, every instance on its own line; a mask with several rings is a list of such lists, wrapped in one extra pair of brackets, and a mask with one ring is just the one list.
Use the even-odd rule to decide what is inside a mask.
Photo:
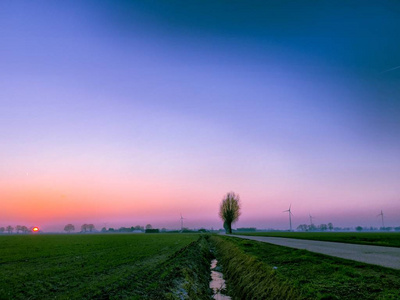
[(234, 192), (229, 192), (222, 199), (219, 207), (219, 216), (224, 221), (224, 228), (227, 233), (232, 233), (232, 223), (239, 220), (240, 197)]

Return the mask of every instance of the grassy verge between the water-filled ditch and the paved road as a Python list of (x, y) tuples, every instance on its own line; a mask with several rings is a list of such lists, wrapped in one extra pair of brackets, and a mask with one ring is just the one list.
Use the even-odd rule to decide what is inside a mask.
[(233, 237), (211, 241), (237, 299), (400, 299), (399, 270)]

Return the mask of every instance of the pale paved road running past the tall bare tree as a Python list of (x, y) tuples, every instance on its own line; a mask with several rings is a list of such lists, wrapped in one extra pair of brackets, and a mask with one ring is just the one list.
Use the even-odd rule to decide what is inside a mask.
[(400, 248), (381, 247), (370, 245), (355, 245), (334, 242), (321, 242), (311, 240), (299, 240), (277, 237), (231, 235), (243, 239), (255, 240), (286, 246), (297, 249), (305, 249), (311, 252), (322, 253), (340, 258), (351, 259), (363, 263), (380, 265), (383, 267), (400, 270)]

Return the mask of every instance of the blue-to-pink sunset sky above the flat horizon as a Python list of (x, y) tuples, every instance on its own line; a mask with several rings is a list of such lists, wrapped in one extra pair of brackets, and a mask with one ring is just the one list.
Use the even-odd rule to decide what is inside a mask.
[(400, 225), (397, 1), (1, 1), (0, 226)]

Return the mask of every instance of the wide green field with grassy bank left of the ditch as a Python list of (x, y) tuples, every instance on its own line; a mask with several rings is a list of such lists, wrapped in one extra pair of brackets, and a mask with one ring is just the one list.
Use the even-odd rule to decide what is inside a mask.
[(209, 299), (209, 256), (198, 234), (2, 236), (0, 299)]

